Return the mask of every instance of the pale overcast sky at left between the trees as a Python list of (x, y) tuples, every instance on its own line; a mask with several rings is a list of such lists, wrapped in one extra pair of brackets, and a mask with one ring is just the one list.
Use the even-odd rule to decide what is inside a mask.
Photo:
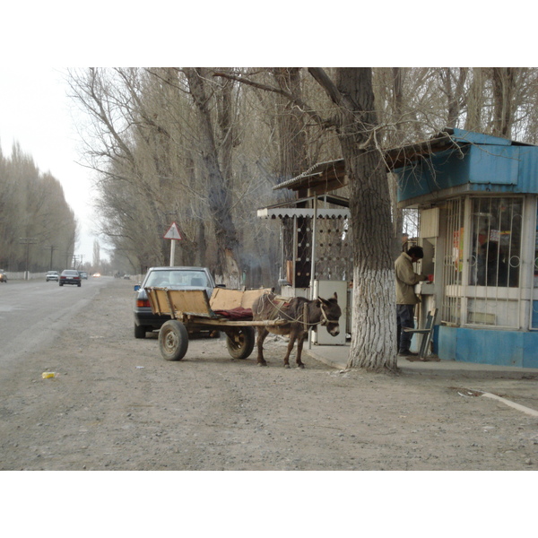
[[(66, 96), (65, 68), (39, 65), (0, 69), (0, 143), (10, 156), (13, 143), (30, 154), (42, 173), (62, 184), (65, 199), (79, 221), (74, 254), (91, 262), (97, 239), (92, 210), (91, 170), (82, 167), (81, 141), (74, 126), (74, 103)], [(106, 257), (100, 240), (101, 257)]]

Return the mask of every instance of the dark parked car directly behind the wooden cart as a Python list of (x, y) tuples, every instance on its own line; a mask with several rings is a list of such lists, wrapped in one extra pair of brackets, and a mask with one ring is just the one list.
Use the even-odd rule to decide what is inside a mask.
[(170, 290), (205, 290), (211, 297), (215, 282), (207, 267), (150, 267), (142, 285), (134, 286), (134, 338), (145, 338), (146, 333), (160, 329), (169, 316), (152, 313), (145, 288), (169, 288)]

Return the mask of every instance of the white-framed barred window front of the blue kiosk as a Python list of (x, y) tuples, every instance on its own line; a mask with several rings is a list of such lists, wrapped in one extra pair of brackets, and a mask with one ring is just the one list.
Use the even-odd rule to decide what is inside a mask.
[(519, 329), (523, 198), (449, 200), (446, 214), (442, 321)]

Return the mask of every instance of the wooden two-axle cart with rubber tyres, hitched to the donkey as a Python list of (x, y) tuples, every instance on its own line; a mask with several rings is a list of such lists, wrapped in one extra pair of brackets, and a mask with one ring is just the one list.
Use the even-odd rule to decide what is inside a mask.
[[(181, 360), (188, 348), (188, 334), (213, 328), (226, 334), (226, 346), (234, 359), (247, 359), (254, 349), (256, 325), (281, 325), (284, 320), (253, 321), (252, 305), (269, 289), (227, 290), (215, 288), (211, 299), (205, 290), (146, 288), (153, 314), (171, 317), (159, 333), (161, 355)], [(226, 314), (226, 315), (225, 315)], [(233, 319), (240, 317), (240, 319)]]

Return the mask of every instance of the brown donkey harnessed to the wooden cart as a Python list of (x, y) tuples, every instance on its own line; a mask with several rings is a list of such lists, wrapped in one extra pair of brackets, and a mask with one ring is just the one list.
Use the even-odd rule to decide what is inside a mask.
[(289, 323), (282, 325), (260, 325), (257, 327), (256, 345), (258, 366), (267, 366), (267, 362), (264, 359), (264, 341), (269, 333), (290, 336), (288, 351), (284, 357), (284, 368), (290, 368), (290, 354), (296, 340), (297, 367), (305, 367), (300, 360), (300, 356), (303, 341), (308, 334), (309, 328), (316, 329), (317, 325), (324, 325), (327, 327), (329, 334), (333, 336), (340, 334), (338, 319), (342, 316), (342, 311), (338, 306), (336, 293), (328, 300), (321, 298), (308, 300), (304, 297), (294, 297), (289, 302), (286, 302), (286, 300), (277, 298), (273, 293), (267, 293), (256, 299), (254, 305), (252, 305), (252, 313), (255, 321), (290, 320)]

